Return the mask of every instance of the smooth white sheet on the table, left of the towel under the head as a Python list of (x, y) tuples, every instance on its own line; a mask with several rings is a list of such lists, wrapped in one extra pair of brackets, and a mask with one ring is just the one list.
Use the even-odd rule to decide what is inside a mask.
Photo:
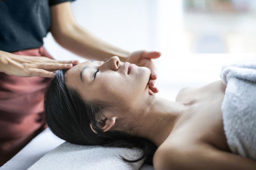
[[(26, 170), (46, 153), (53, 150), (64, 140), (56, 137), (48, 128), (32, 139), (13, 158), (5, 163), (0, 170)], [(153, 170), (153, 166), (143, 164), (140, 170)]]

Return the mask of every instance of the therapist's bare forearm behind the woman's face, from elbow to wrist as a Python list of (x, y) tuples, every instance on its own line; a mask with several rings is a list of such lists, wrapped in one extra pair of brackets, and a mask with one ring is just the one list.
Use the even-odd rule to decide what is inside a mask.
[(117, 55), (121, 61), (126, 61), (130, 54), (129, 51), (107, 43), (77, 24), (53, 36), (62, 47), (88, 59), (102, 61)]

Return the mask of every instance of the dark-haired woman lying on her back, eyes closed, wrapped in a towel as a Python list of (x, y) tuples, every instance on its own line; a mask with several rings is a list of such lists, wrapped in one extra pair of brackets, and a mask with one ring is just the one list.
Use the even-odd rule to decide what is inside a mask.
[(220, 80), (183, 88), (172, 102), (149, 94), (146, 67), (117, 56), (87, 61), (57, 72), (45, 98), (46, 120), (55, 135), (71, 143), (140, 148), (141, 158), (123, 159), (145, 159), (156, 170), (255, 170), (256, 72), (244, 74), (254, 81), (243, 81), (231, 71), (222, 70), (227, 86)]

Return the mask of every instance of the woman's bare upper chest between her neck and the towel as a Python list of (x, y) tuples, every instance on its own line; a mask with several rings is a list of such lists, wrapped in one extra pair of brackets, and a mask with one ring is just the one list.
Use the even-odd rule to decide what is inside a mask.
[(224, 95), (221, 81), (181, 91), (176, 101), (189, 106), (165, 142), (204, 142), (228, 151), (221, 111)]

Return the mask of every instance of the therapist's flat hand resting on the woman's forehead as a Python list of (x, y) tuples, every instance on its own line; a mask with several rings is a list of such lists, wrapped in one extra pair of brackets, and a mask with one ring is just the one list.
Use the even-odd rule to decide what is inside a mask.
[(24, 56), (0, 51), (0, 71), (18, 77), (55, 76), (55, 70), (67, 69), (79, 61), (57, 61), (48, 57)]

